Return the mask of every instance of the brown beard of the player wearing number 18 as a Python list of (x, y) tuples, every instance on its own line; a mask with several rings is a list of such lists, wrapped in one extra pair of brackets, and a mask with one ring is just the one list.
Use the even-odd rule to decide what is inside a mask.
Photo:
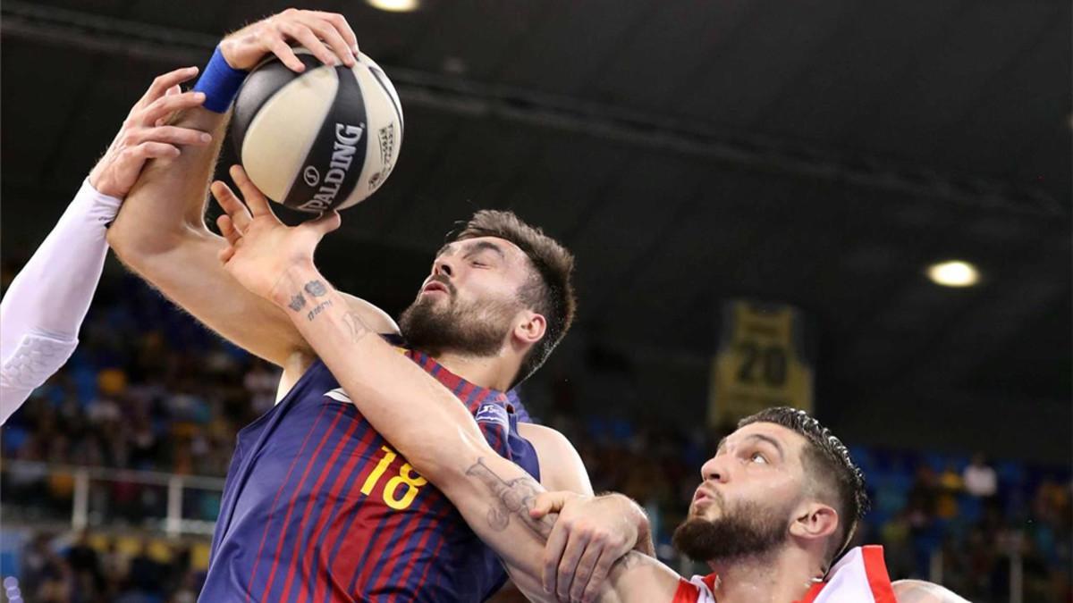
[(520, 309), (518, 300), (482, 299), (459, 303), (456, 290), (445, 283), (444, 303), (421, 295), (399, 317), (399, 330), (407, 345), (428, 354), (455, 352), (470, 356), (498, 354)]

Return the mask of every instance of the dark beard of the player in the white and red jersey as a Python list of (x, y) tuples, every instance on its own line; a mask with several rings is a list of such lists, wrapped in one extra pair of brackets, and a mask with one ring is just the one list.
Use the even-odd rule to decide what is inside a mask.
[(727, 561), (762, 557), (789, 538), (789, 510), (743, 502), (729, 508), (720, 499), (722, 514), (715, 519), (687, 517), (674, 531), (676, 549), (694, 561)]

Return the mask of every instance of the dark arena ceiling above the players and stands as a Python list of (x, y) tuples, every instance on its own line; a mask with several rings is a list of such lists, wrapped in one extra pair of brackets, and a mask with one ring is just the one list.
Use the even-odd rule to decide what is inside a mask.
[[(1068, 0), (312, 4), (407, 116), (393, 177), (325, 244), (355, 293), (401, 308), (454, 220), (512, 208), (576, 252), (592, 344), (704, 358), (719, 302), (753, 296), (815, 319), (831, 403), (1069, 406)], [(156, 73), (283, 6), (5, 0), (4, 250)], [(924, 277), (951, 258), (982, 285)]]

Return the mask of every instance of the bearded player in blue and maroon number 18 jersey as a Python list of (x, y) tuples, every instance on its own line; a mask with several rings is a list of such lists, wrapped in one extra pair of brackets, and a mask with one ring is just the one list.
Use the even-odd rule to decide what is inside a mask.
[[(236, 70), (275, 54), (302, 71), (288, 42), (328, 63), (351, 65), (356, 52), (340, 15), (296, 10), (227, 35), (219, 50)], [(226, 240), (210, 233), (203, 217), (225, 124), (225, 114), (206, 108), (181, 114), (176, 126), (208, 132), (215, 144), (148, 165), (108, 232), (108, 242), (134, 271), (224, 338), (283, 369), (275, 408), (238, 435), (201, 599), (488, 598), (505, 580), (493, 551), (369, 426), (285, 313), (221, 266)], [(245, 182), (240, 170), (233, 174)], [(229, 202), (225, 187), (214, 192)], [(231, 201), (232, 211), (240, 207)], [(233, 234), (248, 224), (229, 218), (220, 226)], [(591, 495), (573, 446), (554, 430), (520, 421), (509, 394), (570, 326), (572, 262), (513, 215), (480, 212), (436, 258), (400, 321), (401, 333), (368, 303), (348, 296), (344, 304), (378, 334), (396, 342), (405, 336), (406, 357), (394, 354), (451, 392), (501, 458), (550, 489)], [(296, 293), (289, 311), (317, 315), (325, 309), (321, 294), (315, 286)], [(644, 514), (632, 501), (612, 497), (605, 506), (616, 525), (623, 514), (632, 517), (641, 538), (600, 540), (593, 550), (615, 559), (638, 542), (650, 549)]]

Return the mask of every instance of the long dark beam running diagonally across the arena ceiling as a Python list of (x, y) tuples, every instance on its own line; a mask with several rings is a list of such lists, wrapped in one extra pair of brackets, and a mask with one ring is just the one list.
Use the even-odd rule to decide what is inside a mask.
[[(90, 52), (135, 57), (168, 64), (196, 64), (217, 38), (5, 0), (0, 6), (4, 36)], [(899, 165), (881, 158), (852, 157), (832, 149), (758, 134), (727, 136), (699, 124), (582, 99), (485, 84), (462, 77), (399, 67), (389, 68), (399, 94), (410, 104), (460, 116), (502, 119), (572, 132), (648, 149), (696, 157), (733, 167), (794, 177), (846, 182), (912, 196), (930, 196), (970, 207), (1068, 216), (1069, 208), (1035, 188), (994, 179), (954, 177), (923, 166)]]

